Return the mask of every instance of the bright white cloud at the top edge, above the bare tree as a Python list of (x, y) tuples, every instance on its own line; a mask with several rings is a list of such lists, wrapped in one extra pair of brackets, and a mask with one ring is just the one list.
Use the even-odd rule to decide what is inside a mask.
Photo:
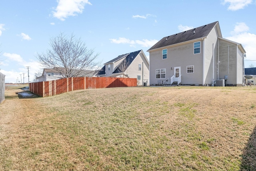
[(53, 16), (64, 21), (68, 16), (76, 16), (82, 13), (85, 4), (92, 5), (88, 0), (57, 0), (58, 6), (53, 12)]

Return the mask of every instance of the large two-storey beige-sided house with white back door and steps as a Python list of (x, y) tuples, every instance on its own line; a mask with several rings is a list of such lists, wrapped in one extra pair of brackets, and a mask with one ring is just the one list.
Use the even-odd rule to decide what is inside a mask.
[(244, 54), (241, 44), (222, 38), (219, 22), (213, 22), (162, 38), (150, 53), (150, 85), (215, 85), (227, 79), (228, 86), (244, 84)]

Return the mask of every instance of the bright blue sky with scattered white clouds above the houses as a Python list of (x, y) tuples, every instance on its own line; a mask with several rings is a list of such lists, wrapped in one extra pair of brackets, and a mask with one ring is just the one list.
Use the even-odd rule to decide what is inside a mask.
[[(219, 21), (223, 38), (242, 44), (245, 68), (256, 67), (256, 0), (1, 0), (0, 72), (28, 82), (37, 53), (60, 32), (81, 38), (102, 64), (184, 30)], [(22, 74), (23, 82), (23, 74)]]

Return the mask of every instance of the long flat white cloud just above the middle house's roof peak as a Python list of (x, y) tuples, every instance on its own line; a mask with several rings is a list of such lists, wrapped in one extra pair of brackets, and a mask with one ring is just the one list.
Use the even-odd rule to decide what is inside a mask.
[(142, 47), (151, 47), (154, 44), (156, 44), (156, 42), (158, 42), (158, 40), (148, 40), (148, 39), (130, 40), (130, 39), (127, 39), (127, 38), (109, 39), (109, 40), (111, 41), (111, 43), (129, 44), (131, 47), (136, 47), (136, 44), (138, 44)]

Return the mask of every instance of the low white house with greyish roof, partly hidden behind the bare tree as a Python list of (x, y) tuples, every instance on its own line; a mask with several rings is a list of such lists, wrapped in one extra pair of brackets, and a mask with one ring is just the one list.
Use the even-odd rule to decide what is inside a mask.
[[(58, 69), (60, 70), (60, 69)], [(36, 78), (36, 82), (45, 82), (45, 81), (52, 81), (58, 80), (61, 78), (65, 78), (64, 68), (62, 69), (63, 72), (59, 72), (56, 69), (48, 69), (44, 68), (42, 76)], [(81, 77), (93, 77), (98, 71), (91, 71), (91, 70), (84, 70), (81, 73)]]

